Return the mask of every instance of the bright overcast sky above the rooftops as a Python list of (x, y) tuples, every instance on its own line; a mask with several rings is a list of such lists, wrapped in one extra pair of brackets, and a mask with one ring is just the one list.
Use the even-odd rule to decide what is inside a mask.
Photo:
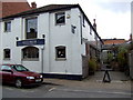
[(98, 33), (102, 39), (129, 39), (131, 33), (132, 0), (28, 0), (35, 1), (38, 7), (45, 4), (79, 3), (89, 20), (96, 19)]

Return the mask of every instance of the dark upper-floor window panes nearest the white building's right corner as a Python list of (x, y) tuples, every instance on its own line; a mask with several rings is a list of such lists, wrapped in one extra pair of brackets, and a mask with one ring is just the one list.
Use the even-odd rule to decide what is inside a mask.
[(57, 24), (65, 23), (65, 13), (64, 12), (55, 13), (55, 23)]

